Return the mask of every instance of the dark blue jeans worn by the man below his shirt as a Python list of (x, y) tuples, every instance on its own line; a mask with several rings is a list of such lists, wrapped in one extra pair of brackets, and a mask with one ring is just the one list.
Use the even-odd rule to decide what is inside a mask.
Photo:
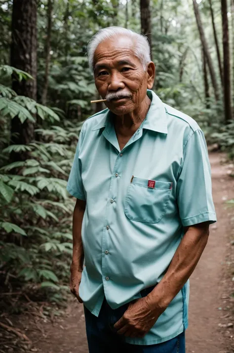
[[(142, 297), (150, 293), (152, 289), (141, 291)], [(133, 345), (124, 342), (124, 336), (116, 333), (114, 324), (127, 307), (128, 304), (125, 304), (118, 309), (111, 309), (104, 299), (98, 317), (84, 307), (89, 353), (185, 353), (185, 332), (156, 345)]]

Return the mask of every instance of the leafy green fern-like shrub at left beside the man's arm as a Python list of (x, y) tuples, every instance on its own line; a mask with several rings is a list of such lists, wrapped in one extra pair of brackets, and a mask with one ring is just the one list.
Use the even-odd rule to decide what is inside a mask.
[[(9, 67), (6, 71), (14, 72)], [(3, 85), (0, 89), (0, 122), (18, 116), (23, 123), (38, 114), (48, 127), (37, 129), (40, 140), (29, 144), (13, 145), (0, 138), (1, 277), (11, 273), (22, 285), (40, 284), (51, 300), (58, 300), (69, 278), (73, 201), (66, 184), (81, 124), (62, 124), (61, 109), (17, 96)], [(55, 122), (60, 126), (51, 125)], [(25, 152), (26, 160), (11, 162), (11, 153)]]

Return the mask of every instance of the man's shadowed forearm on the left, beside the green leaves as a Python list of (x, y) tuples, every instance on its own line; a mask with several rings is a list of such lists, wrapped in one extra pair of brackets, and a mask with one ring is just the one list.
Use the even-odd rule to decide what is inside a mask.
[(81, 226), (85, 211), (85, 201), (77, 200), (73, 213), (73, 257), (72, 265), (83, 270), (84, 251), (81, 239)]

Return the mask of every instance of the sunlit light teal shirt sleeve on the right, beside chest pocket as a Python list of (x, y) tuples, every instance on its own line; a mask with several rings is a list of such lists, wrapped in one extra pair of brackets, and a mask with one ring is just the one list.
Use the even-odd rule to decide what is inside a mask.
[(200, 130), (193, 132), (184, 147), (176, 195), (183, 226), (216, 222), (210, 162), (205, 137)]

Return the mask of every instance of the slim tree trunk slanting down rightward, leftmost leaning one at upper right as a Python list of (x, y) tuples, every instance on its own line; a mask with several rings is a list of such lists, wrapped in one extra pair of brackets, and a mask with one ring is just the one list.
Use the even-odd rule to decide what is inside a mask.
[(215, 71), (214, 71), (214, 66), (212, 63), (212, 59), (210, 56), (210, 52), (208, 49), (208, 45), (205, 39), (205, 34), (204, 34), (204, 30), (203, 30), (203, 26), (201, 23), (201, 18), (200, 18), (200, 13), (199, 13), (199, 9), (198, 9), (198, 5), (196, 0), (193, 0), (193, 5), (194, 5), (194, 13), (195, 13), (195, 18), (196, 18), (196, 24), (197, 24), (197, 28), (198, 28), (198, 32), (200, 35), (200, 41), (204, 50), (204, 54), (207, 60), (207, 65), (209, 68), (209, 72), (210, 72), (210, 78), (211, 78), (211, 82), (212, 82), (212, 86), (214, 88), (214, 95), (215, 95), (215, 99), (216, 101), (219, 100), (219, 88), (218, 88), (218, 84), (216, 81), (216, 77), (215, 77)]

